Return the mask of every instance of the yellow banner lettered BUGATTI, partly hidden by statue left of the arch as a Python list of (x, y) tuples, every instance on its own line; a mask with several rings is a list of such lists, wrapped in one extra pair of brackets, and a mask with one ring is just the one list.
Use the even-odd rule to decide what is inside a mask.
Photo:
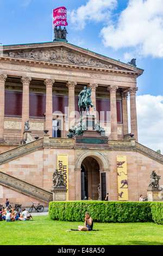
[(64, 174), (64, 186), (67, 188), (68, 200), (68, 154), (57, 154), (57, 168), (58, 172)]

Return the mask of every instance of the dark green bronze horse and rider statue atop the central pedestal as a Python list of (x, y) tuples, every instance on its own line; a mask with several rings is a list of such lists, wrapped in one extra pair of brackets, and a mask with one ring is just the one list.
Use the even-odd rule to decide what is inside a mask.
[(82, 90), (82, 92), (80, 92), (78, 96), (79, 96), (78, 106), (79, 106), (80, 117), (82, 117), (82, 108), (83, 108), (83, 111), (85, 111), (86, 109), (87, 115), (89, 115), (89, 112), (88, 112), (89, 106), (93, 107), (94, 111), (96, 111), (95, 106), (91, 101), (91, 88), (86, 89), (86, 87), (84, 87), (84, 90)]

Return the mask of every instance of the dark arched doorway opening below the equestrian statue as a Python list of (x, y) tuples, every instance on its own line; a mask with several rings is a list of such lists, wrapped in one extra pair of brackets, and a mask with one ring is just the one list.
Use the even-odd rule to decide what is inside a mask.
[(99, 164), (91, 156), (85, 157), (81, 166), (81, 199), (86, 196), (98, 199), (98, 184), (100, 184)]

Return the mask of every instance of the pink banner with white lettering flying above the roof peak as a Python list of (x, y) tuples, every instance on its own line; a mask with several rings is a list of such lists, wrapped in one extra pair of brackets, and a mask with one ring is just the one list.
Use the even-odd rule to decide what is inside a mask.
[(68, 26), (66, 15), (67, 9), (65, 7), (53, 9), (53, 28), (55, 26)]

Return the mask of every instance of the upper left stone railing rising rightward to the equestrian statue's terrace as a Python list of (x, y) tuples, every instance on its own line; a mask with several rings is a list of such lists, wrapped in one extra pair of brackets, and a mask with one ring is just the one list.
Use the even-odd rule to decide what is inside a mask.
[(10, 149), (0, 154), (0, 164), (16, 159), (17, 157), (26, 155), (42, 147), (43, 138), (37, 139), (36, 141), (23, 144), (14, 149)]

